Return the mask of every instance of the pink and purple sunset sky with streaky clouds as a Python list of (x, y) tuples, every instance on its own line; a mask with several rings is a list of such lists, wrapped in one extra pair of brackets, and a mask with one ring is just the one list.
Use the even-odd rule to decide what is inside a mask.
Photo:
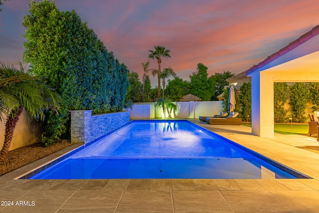
[[(35, 0), (39, 2), (39, 0)], [(0, 61), (22, 61), (29, 0), (4, 1), (0, 12)], [(189, 80), (198, 63), (209, 75), (238, 74), (319, 24), (318, 0), (55, 0), (74, 9), (108, 50), (142, 78), (154, 46), (170, 49), (171, 67)], [(152, 87), (157, 80), (151, 77)]]

